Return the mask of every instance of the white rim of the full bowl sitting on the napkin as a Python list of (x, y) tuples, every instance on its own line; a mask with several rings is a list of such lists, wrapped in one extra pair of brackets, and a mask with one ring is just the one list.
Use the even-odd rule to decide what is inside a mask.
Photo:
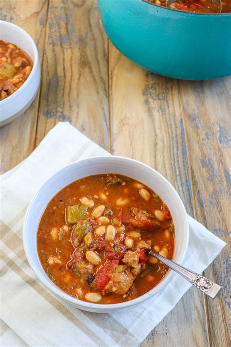
[[(93, 312), (102, 312), (105, 311), (106, 312), (111, 312), (111, 311), (116, 311), (116, 310), (120, 310), (120, 309), (124, 309), (124, 308), (129, 308), (131, 306), (137, 306), (140, 305), (142, 303), (144, 303), (147, 299), (149, 299), (150, 297), (154, 296), (155, 294), (157, 294), (159, 291), (161, 291), (165, 286), (167, 286), (171, 280), (171, 278), (173, 277), (173, 275), (175, 274), (174, 271), (172, 269), (168, 270), (169, 273), (169, 278), (166, 281), (166, 283), (163, 283), (163, 279), (156, 285), (154, 286), (153, 289), (149, 290), (147, 293), (138, 296), (135, 299), (132, 299), (130, 301), (126, 301), (126, 302), (122, 302), (122, 303), (117, 303), (117, 304), (95, 304), (95, 303), (91, 303), (91, 302), (86, 302), (83, 300), (79, 300), (77, 298), (72, 297), (71, 295), (65, 293), (64, 291), (62, 291), (58, 286), (56, 286), (46, 275), (44, 269), (42, 268), (42, 270), (44, 271), (44, 274), (46, 275), (45, 279), (42, 278), (42, 276), (40, 276), (40, 270), (37, 269), (36, 266), (34, 266), (33, 264), (33, 260), (30, 259), (28, 252), (27, 252), (27, 221), (28, 218), (30, 216), (30, 212), (31, 212), (31, 208), (33, 207), (33, 204), (35, 203), (37, 196), (39, 195), (40, 190), (43, 188), (43, 186), (45, 186), (48, 181), (54, 179), (54, 177), (62, 172), (65, 171), (66, 169), (68, 169), (71, 166), (76, 165), (77, 163), (83, 163), (83, 162), (87, 162), (87, 161), (97, 161), (97, 160), (114, 160), (114, 159), (119, 159), (122, 160), (124, 162), (131, 162), (131, 163), (135, 163), (138, 164), (140, 166), (143, 166), (144, 168), (153, 171), (153, 173), (157, 176), (159, 176), (163, 182), (165, 184), (167, 184), (175, 193), (175, 196), (177, 197), (178, 200), (178, 204), (181, 206), (183, 214), (182, 214), (182, 218), (184, 219), (184, 224), (186, 225), (186, 229), (185, 231), (185, 245), (184, 245), (184, 250), (183, 253), (181, 255), (181, 259), (179, 261), (179, 264), (182, 263), (185, 253), (187, 251), (188, 248), (188, 243), (189, 243), (189, 222), (188, 222), (188, 217), (187, 217), (187, 212), (185, 209), (185, 206), (179, 196), (179, 194), (177, 193), (177, 191), (175, 190), (175, 188), (173, 187), (173, 185), (163, 176), (161, 175), (158, 171), (156, 171), (154, 168), (152, 168), (151, 166), (139, 162), (135, 159), (131, 159), (131, 158), (127, 158), (127, 157), (123, 157), (123, 156), (96, 156), (96, 157), (89, 157), (86, 159), (82, 159), (82, 160), (77, 160), (75, 162), (69, 163), (68, 165), (65, 165), (64, 167), (62, 167), (61, 169), (57, 170), (54, 174), (52, 174), (43, 184), (40, 185), (39, 189), (37, 190), (37, 192), (34, 194), (33, 198), (31, 199), (30, 204), (27, 207), (26, 213), (25, 213), (25, 217), (24, 217), (24, 223), (23, 223), (23, 247), (24, 247), (24, 251), (25, 251), (25, 255), (27, 258), (27, 261), (30, 265), (30, 267), (32, 268), (32, 270), (34, 271), (34, 273), (36, 274), (37, 278), (39, 279), (39, 281), (41, 281), (43, 283), (44, 286), (46, 286), (53, 294), (57, 295), (60, 299), (65, 300), (66, 302), (73, 304), (74, 306), (79, 307), (80, 309), (85, 309), (85, 310), (92, 310)], [(90, 176), (90, 175), (88, 175)], [(87, 177), (87, 176), (86, 176)], [(74, 181), (73, 181), (74, 182)], [(68, 184), (67, 184), (68, 185)], [(64, 187), (63, 187), (64, 188)], [(38, 232), (38, 229), (36, 231), (36, 234)], [(37, 249), (37, 245), (36, 245), (36, 249)], [(38, 251), (36, 256), (39, 258), (38, 256)], [(40, 260), (39, 260), (40, 262)], [(49, 281), (47, 281), (47, 279)]]

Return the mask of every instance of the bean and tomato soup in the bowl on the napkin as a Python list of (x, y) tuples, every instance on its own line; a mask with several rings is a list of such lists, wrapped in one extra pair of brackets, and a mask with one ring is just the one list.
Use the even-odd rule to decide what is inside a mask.
[[(117, 174), (85, 177), (60, 190), (37, 234), (39, 259), (51, 281), (80, 300), (94, 302), (85, 295), (97, 293), (100, 304), (134, 299), (162, 280), (168, 267), (146, 255), (150, 245), (173, 259), (170, 211), (152, 189)], [(86, 259), (89, 250), (96, 265)]]

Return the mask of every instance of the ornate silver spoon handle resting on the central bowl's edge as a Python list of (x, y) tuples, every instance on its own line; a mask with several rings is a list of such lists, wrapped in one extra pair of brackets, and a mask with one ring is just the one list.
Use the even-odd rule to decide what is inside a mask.
[(155, 258), (160, 260), (165, 265), (168, 265), (171, 269), (173, 269), (179, 275), (184, 277), (187, 281), (192, 283), (193, 286), (197, 287), (198, 289), (203, 291), (205, 294), (210, 296), (212, 299), (214, 299), (217, 296), (217, 294), (219, 293), (219, 291), (222, 289), (221, 286), (212, 282), (208, 278), (206, 278), (202, 275), (199, 275), (198, 273), (195, 273), (195, 272), (187, 269), (186, 267), (178, 265), (178, 264), (174, 263), (173, 261), (162, 257), (162, 255), (155, 253), (152, 250), (150, 250), (147, 253), (150, 255), (153, 255)]

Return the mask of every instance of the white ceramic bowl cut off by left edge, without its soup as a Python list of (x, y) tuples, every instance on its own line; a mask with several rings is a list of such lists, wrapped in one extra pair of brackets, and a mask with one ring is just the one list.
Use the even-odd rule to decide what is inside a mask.
[(35, 99), (39, 90), (40, 65), (35, 42), (19, 26), (0, 20), (0, 40), (16, 44), (34, 62), (30, 76), (22, 86), (14, 94), (0, 101), (0, 126), (2, 126), (19, 117)]

